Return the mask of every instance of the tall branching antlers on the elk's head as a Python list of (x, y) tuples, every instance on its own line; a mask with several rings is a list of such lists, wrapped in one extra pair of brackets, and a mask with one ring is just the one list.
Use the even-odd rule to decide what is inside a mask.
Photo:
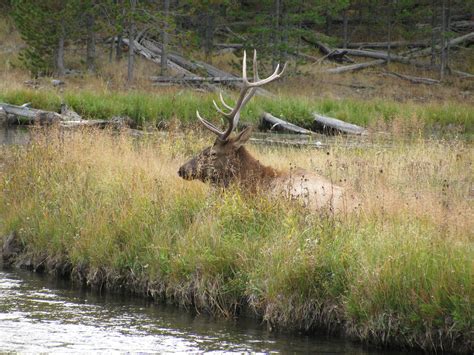
[(270, 75), (266, 79), (260, 80), (260, 78), (258, 77), (258, 71), (257, 71), (257, 51), (254, 50), (253, 51), (253, 80), (254, 82), (251, 83), (247, 79), (247, 53), (244, 51), (244, 59), (243, 59), (243, 64), (242, 64), (242, 88), (240, 90), (240, 95), (235, 107), (232, 108), (230, 105), (228, 105), (224, 101), (224, 98), (222, 97), (222, 93), (219, 94), (219, 98), (221, 99), (222, 105), (227, 110), (229, 110), (228, 112), (225, 112), (224, 110), (222, 110), (219, 107), (219, 105), (214, 100), (212, 100), (216, 110), (228, 120), (229, 126), (227, 127), (227, 130), (225, 132), (222, 132), (214, 124), (202, 118), (201, 115), (199, 114), (199, 111), (196, 111), (197, 117), (199, 118), (201, 123), (208, 130), (215, 133), (221, 141), (226, 141), (229, 138), (229, 135), (232, 133), (232, 131), (237, 127), (237, 124), (239, 123), (240, 110), (242, 109), (242, 107), (244, 107), (245, 104), (252, 98), (252, 96), (255, 95), (255, 92), (257, 91), (259, 86), (268, 84), (269, 82), (275, 79), (278, 79), (285, 71), (286, 64), (287, 63), (285, 63), (283, 69), (280, 72), (278, 72), (278, 70), (280, 69), (280, 64), (278, 64), (272, 75)]

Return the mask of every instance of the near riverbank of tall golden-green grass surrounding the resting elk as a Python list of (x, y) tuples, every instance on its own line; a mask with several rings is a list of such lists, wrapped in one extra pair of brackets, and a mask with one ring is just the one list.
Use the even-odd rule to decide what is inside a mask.
[(179, 179), (202, 136), (53, 129), (0, 148), (0, 234), (16, 233), (23, 264), (97, 288), (229, 317), (250, 309), (276, 329), (472, 351), (472, 145), (251, 147), (351, 187), (361, 211), (333, 216)]

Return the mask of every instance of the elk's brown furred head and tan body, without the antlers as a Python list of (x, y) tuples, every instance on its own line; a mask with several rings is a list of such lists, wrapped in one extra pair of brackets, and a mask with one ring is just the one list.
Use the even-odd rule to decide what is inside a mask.
[(245, 149), (250, 128), (223, 142), (217, 139), (212, 147), (183, 164), (178, 174), (187, 180), (199, 179), (226, 187), (236, 182), (248, 192), (268, 191), (289, 199), (302, 201), (313, 209), (341, 211), (353, 209), (353, 199), (344, 189), (304, 169), (278, 171), (261, 164)]

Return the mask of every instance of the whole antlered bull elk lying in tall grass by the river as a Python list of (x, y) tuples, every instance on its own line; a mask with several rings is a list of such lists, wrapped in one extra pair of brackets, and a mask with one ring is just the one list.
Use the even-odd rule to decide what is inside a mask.
[(290, 199), (300, 199), (305, 205), (314, 209), (327, 208), (334, 212), (347, 209), (347, 199), (342, 187), (301, 168), (280, 171), (265, 166), (255, 159), (244, 147), (250, 138), (252, 127), (249, 126), (231, 136), (237, 127), (240, 112), (245, 104), (254, 96), (259, 87), (281, 77), (285, 68), (286, 64), (280, 71), (280, 66), (277, 65), (272, 75), (266, 79), (260, 79), (257, 72), (257, 52), (254, 51), (253, 82), (250, 82), (247, 79), (247, 55), (244, 51), (242, 87), (235, 107), (225, 102), (222, 93), (219, 97), (225, 109), (213, 101), (216, 110), (226, 118), (227, 129), (221, 131), (213, 123), (202, 118), (199, 111), (196, 111), (199, 121), (217, 135), (217, 138), (211, 147), (204, 149), (183, 164), (178, 170), (178, 175), (186, 180), (199, 179), (222, 187), (237, 183), (246, 191), (282, 194)]

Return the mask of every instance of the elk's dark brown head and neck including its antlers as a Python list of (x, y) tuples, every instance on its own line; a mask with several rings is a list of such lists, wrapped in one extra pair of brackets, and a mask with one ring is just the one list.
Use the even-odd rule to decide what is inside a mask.
[(247, 55), (244, 51), (242, 87), (235, 107), (228, 105), (224, 101), (222, 94), (219, 97), (225, 109), (222, 109), (213, 101), (216, 110), (227, 119), (227, 129), (221, 131), (214, 124), (202, 118), (199, 112), (196, 111), (197, 117), (204, 127), (216, 134), (217, 138), (211, 147), (204, 149), (197, 156), (182, 165), (178, 171), (179, 176), (187, 180), (199, 179), (227, 186), (232, 180), (242, 181), (250, 177), (259, 178), (259, 175), (265, 172), (265, 168), (253, 159), (243, 147), (250, 138), (251, 127), (247, 127), (233, 137), (231, 137), (231, 133), (237, 127), (241, 109), (254, 96), (257, 88), (278, 79), (283, 74), (285, 68), (286, 64), (279, 71), (280, 65), (277, 65), (272, 75), (260, 80), (257, 72), (257, 52), (254, 51), (254, 80), (249, 82), (247, 79)]

